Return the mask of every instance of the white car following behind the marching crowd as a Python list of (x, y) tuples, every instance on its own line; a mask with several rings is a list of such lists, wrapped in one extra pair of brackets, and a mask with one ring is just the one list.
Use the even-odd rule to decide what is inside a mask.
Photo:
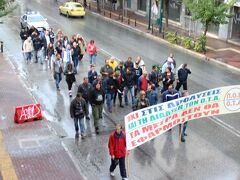
[(39, 12), (26, 12), (20, 19), (21, 27), (27, 27), (30, 29), (34, 26), (38, 31), (42, 31), (43, 28), (49, 29), (47, 19), (44, 18)]

